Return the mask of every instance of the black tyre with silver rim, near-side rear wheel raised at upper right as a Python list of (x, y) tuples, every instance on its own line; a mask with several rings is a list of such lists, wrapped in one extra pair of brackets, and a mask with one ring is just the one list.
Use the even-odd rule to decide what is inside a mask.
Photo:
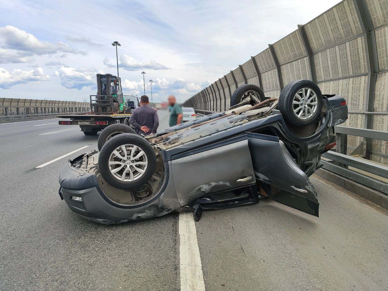
[[(299, 106), (298, 104), (293, 104), (294, 97), (296, 96), (296, 94), (300, 92), (300, 90), (303, 90), (303, 88), (308, 88), (313, 90), (315, 92), (315, 95), (317, 96), (316, 97), (317, 105), (316, 107), (314, 107), (315, 109), (311, 109), (311, 111), (314, 112), (313, 114), (311, 114), (311, 116), (308, 116), (308, 114), (310, 114), (310, 111), (308, 111), (308, 114), (305, 114), (305, 112), (303, 112), (304, 109), (301, 108), (301, 106)], [(307, 92), (305, 91), (305, 93)], [(309, 96), (306, 96), (306, 97), (303, 97), (300, 94), (298, 95), (300, 96), (299, 100), (304, 102), (301, 104), (306, 104), (306, 100), (311, 99), (314, 94), (310, 92)], [(303, 101), (304, 100), (303, 98), (306, 98), (306, 100)], [(294, 110), (298, 110), (298, 108), (301, 108), (300, 111), (297, 111), (299, 113), (302, 111), (301, 117), (298, 117), (298, 115), (294, 112)], [(281, 111), (284, 120), (289, 125), (292, 125), (292, 126), (310, 125), (318, 118), (322, 110), (322, 93), (320, 92), (318, 85), (315, 84), (313, 81), (310, 81), (310, 80), (293, 81), (289, 83), (286, 87), (284, 87), (280, 92), (278, 109)]]

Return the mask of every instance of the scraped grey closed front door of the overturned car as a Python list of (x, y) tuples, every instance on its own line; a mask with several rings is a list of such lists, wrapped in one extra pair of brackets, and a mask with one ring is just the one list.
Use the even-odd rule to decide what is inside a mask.
[(256, 183), (247, 135), (173, 156), (171, 169), (181, 206)]

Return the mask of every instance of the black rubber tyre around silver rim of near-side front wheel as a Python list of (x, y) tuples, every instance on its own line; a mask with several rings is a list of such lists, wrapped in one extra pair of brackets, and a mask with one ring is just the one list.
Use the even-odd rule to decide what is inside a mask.
[[(118, 147), (121, 147), (121, 145), (126, 145), (126, 144), (136, 145), (137, 147), (140, 147), (141, 151), (143, 151), (147, 156), (147, 165), (144, 173), (139, 178), (133, 181), (121, 181), (118, 178), (116, 178), (111, 173), (111, 170), (109, 168), (110, 166), (108, 164), (109, 157), (111, 156), (112, 152)], [(130, 160), (128, 160), (128, 162), (129, 161)], [(143, 139), (139, 135), (132, 134), (132, 133), (123, 133), (109, 139), (102, 147), (99, 154), (99, 159), (98, 159), (99, 170), (104, 180), (109, 185), (123, 190), (137, 189), (139, 187), (142, 187), (151, 178), (152, 174), (154, 173), (155, 163), (156, 163), (156, 156), (155, 156), (154, 149), (152, 149), (151, 144), (149, 144), (145, 139)], [(120, 167), (120, 165), (118, 167)], [(123, 170), (124, 169), (125, 168), (123, 168)], [(118, 175), (121, 175), (121, 171), (123, 170), (118, 171), (117, 172)]]

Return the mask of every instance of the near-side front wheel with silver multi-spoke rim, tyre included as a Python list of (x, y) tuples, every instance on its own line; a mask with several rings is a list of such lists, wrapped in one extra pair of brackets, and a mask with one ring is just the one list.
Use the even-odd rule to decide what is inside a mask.
[(104, 144), (98, 166), (109, 185), (126, 190), (143, 186), (154, 173), (155, 162), (151, 144), (139, 135), (123, 133)]

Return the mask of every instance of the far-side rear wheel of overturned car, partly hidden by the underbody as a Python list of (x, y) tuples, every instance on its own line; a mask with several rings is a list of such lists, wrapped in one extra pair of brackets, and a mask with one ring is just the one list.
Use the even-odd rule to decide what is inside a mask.
[(241, 105), (255, 105), (264, 101), (265, 96), (263, 90), (253, 84), (241, 85), (234, 91), (230, 98), (230, 109), (241, 103)]

